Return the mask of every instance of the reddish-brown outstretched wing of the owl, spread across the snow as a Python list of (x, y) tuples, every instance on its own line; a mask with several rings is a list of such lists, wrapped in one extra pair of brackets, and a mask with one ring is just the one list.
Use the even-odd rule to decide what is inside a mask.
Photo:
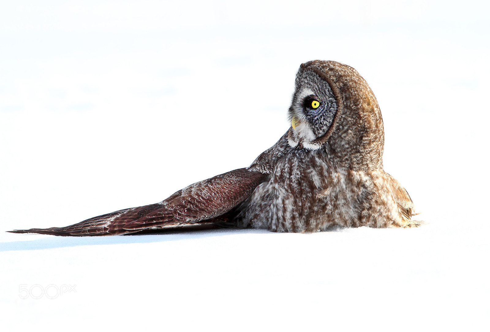
[(10, 232), (58, 236), (123, 235), (152, 227), (198, 223), (220, 217), (237, 207), (266, 176), (239, 168), (196, 182), (160, 203), (99, 215), (66, 227)]

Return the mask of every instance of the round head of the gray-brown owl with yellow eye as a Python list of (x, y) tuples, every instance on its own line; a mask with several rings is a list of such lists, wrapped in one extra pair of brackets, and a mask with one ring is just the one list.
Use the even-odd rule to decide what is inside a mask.
[(382, 165), (381, 111), (368, 83), (352, 67), (321, 60), (302, 64), (296, 73), (289, 119), (292, 147), (325, 148), (350, 168)]

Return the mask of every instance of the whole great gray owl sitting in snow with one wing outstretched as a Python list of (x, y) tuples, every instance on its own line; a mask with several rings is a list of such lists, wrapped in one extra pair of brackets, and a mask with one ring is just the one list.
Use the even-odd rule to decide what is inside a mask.
[(66, 227), (12, 232), (96, 236), (175, 225), (273, 232), (418, 226), (407, 191), (383, 170), (381, 112), (355, 69), (335, 61), (302, 64), (289, 118), (289, 130), (248, 167), (197, 182), (160, 203)]

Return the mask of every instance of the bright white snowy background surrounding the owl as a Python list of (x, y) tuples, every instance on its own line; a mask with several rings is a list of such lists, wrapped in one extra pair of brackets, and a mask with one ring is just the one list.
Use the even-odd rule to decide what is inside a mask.
[[(2, 331), (488, 331), (489, 31), (472, 1), (2, 0)], [(248, 166), (289, 128), (313, 59), (367, 80), (385, 170), (425, 226), (3, 232)], [(33, 285), (76, 292), (22, 299)]]

